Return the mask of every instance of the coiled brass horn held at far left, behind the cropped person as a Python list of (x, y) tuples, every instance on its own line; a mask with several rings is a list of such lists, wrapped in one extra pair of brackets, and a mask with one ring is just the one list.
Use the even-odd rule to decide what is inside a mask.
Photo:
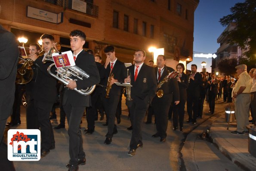
[[(44, 51), (42, 50), (39, 53), (36, 53), (38, 56), (43, 55)], [(16, 83), (17, 84), (27, 84), (31, 81), (33, 78), (33, 69), (31, 66), (33, 65), (33, 62), (30, 58), (22, 58), (19, 57), (19, 64), (22, 64), (20, 68), (17, 69), (17, 75), (16, 75)]]

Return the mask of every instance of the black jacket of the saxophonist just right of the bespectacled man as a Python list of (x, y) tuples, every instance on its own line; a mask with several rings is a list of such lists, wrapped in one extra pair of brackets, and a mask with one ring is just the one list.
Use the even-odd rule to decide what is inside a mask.
[[(155, 67), (154, 70), (155, 70), (155, 76), (157, 78), (158, 68)], [(168, 75), (167, 70), (169, 70), (170, 72), (175, 71), (171, 67), (164, 66), (164, 69), (163, 69), (163, 72), (162, 72), (159, 82), (161, 82), (164, 79), (164, 77), (166, 77)], [(159, 82), (157, 82), (157, 84)], [(170, 96), (170, 98), (172, 98), (172, 99), (170, 99), (170, 101), (172, 101), (172, 100), (179, 101), (179, 85), (178, 85), (176, 78), (170, 79), (168, 82), (163, 83), (160, 89), (163, 90), (163, 97), (161, 98), (161, 99), (163, 99), (163, 101), (167, 100), (166, 96)], [(157, 96), (155, 96), (155, 98), (157, 98)]]

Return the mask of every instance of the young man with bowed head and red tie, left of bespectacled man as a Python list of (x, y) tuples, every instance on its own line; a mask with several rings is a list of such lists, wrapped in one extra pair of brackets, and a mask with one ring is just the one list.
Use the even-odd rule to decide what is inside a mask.
[(125, 78), (125, 65), (123, 62), (119, 61), (115, 56), (114, 46), (107, 46), (104, 49), (105, 55), (107, 55), (105, 67), (105, 78), (103, 79), (103, 85), (107, 86), (108, 77), (110, 73), (114, 76), (110, 80), (111, 89), (109, 91), (109, 98), (106, 98), (106, 91), (102, 93), (103, 106), (105, 108), (105, 113), (107, 116), (108, 133), (106, 134), (106, 140), (104, 144), (111, 144), (113, 134), (117, 134), (117, 125), (115, 125), (115, 116), (117, 111), (117, 105), (120, 100), (121, 86), (117, 86), (114, 82), (123, 82)]

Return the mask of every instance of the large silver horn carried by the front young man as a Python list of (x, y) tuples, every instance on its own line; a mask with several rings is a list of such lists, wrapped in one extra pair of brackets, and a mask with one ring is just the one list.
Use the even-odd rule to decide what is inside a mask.
[[(50, 51), (45, 55), (45, 57), (43, 58), (43, 63), (46, 63), (47, 61), (49, 62), (54, 62), (53, 58), (52, 58), (52, 53), (54, 52), (58, 52), (56, 48), (56, 44), (54, 43), (52, 48), (50, 49)], [(64, 64), (63, 64), (64, 65)], [(67, 85), (69, 82), (66, 79), (70, 79), (70, 80), (74, 80), (77, 81), (78, 79), (86, 79), (89, 78), (89, 74), (87, 74), (86, 72), (84, 72), (80, 67), (77, 66), (73, 66), (73, 67), (62, 67), (62, 68), (58, 68), (56, 70), (56, 74), (51, 72), (51, 68), (55, 66), (54, 63), (50, 64), (49, 67), (47, 68), (48, 73), (53, 76), (54, 78), (56, 78), (57, 80), (59, 80), (60, 82), (64, 83), (65, 85)], [(77, 79), (71, 79), (71, 76), (75, 76)], [(87, 87), (86, 89), (81, 89), (81, 90), (77, 90), (77, 88), (74, 89), (74, 91), (78, 92), (81, 95), (90, 95), (93, 90), (95, 89), (96, 85)]]

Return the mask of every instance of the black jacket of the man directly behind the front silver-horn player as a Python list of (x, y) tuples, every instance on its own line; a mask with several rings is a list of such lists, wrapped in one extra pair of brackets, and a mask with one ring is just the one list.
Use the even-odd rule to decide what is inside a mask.
[[(57, 80), (49, 75), (47, 68), (51, 62), (42, 62), (43, 55), (39, 56), (34, 62), (34, 80), (32, 88), (32, 99), (36, 101), (43, 102), (56, 102), (58, 98), (58, 91), (56, 88)], [(56, 70), (55, 67), (52, 67), (52, 72)]]

